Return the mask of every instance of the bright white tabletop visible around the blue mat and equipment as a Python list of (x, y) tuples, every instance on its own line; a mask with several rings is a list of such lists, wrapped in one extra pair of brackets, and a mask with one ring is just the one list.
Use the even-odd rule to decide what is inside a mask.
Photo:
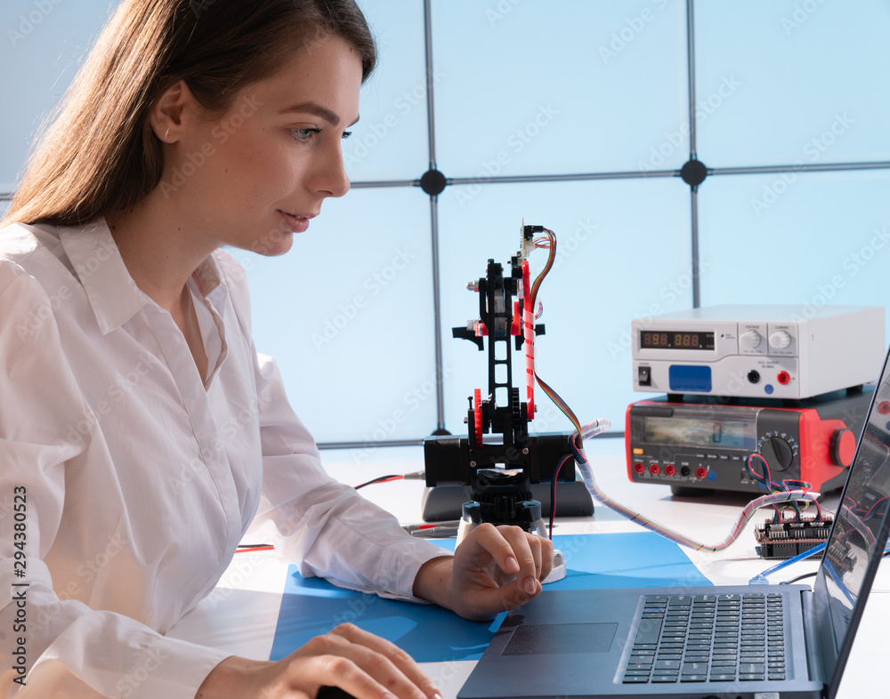
[[(589, 444), (589, 442), (588, 442)], [(623, 455), (619, 454), (619, 440), (597, 440), (588, 446), (588, 456), (594, 466), (597, 483), (613, 499), (633, 506), (647, 518), (674, 528), (701, 542), (721, 542), (729, 534), (746, 503), (739, 494), (712, 494), (700, 498), (675, 498), (668, 486), (631, 483)], [(410, 473), (423, 470), (420, 448), (370, 450), (363, 452), (323, 452), (326, 468), (335, 478), (357, 485), (390, 473)], [(420, 517), (421, 480), (398, 480), (362, 489), (368, 500), (376, 502), (398, 517), (403, 524), (417, 523)], [(829, 497), (826, 505), (833, 510), (837, 494)], [(557, 513), (558, 513), (557, 508)], [(718, 553), (681, 550), (708, 580), (714, 584), (748, 583), (754, 575), (775, 561), (759, 558), (755, 551), (756, 521), (728, 549)], [(638, 532), (635, 525), (597, 503), (591, 518), (557, 518), (554, 534), (596, 534), (608, 532)], [(816, 569), (813, 561), (804, 561), (771, 576), (770, 582), (779, 583)], [(890, 566), (881, 566), (878, 579), (871, 591), (862, 625), (857, 633), (853, 652), (841, 683), (838, 699), (874, 695), (878, 686), (875, 669), (886, 662), (883, 652), (884, 628), (890, 620)], [(278, 622), (282, 591), (287, 576), (287, 562), (279, 561), (273, 553), (236, 554), (216, 589), (182, 618), (168, 632), (169, 636), (190, 640), (206, 646), (221, 648), (233, 655), (268, 660)], [(812, 580), (812, 579), (811, 579)], [(804, 581), (807, 582), (807, 581)], [(441, 687), (445, 699), (452, 699), (473, 669), (474, 661), (422, 663), (425, 671)]]

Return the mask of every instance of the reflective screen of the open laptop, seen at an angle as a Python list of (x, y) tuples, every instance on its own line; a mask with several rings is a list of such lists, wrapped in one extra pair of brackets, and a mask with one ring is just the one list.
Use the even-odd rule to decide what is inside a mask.
[[(823, 650), (827, 651), (827, 661), (836, 661), (835, 674), (843, 670), (852, 645), (852, 636), (847, 639), (851, 625), (858, 625), (862, 616), (864, 605), (857, 607), (856, 601), (868, 595), (886, 544), (887, 503), (890, 502), (890, 371), (887, 367), (885, 363), (878, 380), (816, 583), (817, 590), (823, 587), (820, 592), (827, 593), (829, 629), (822, 627), (822, 639), (828, 647)], [(832, 670), (830, 664), (827, 670)], [(833, 682), (832, 686), (837, 684)]]

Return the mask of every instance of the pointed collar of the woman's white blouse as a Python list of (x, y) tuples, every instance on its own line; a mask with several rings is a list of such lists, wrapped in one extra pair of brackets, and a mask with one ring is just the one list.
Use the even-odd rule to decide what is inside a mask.
[[(59, 237), (103, 335), (124, 325), (150, 302), (127, 271), (104, 219), (83, 227), (60, 227)], [(193, 277), (204, 296), (222, 285), (223, 275), (213, 255), (198, 265)]]

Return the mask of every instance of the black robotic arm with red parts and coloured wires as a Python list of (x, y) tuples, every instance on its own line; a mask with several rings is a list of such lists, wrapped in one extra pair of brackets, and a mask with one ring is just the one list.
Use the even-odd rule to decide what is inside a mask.
[[(457, 518), (465, 502), (480, 505), (481, 521), (521, 524), (530, 528), (530, 506), (546, 502), (549, 483), (562, 458), (571, 454), (571, 433), (530, 434), (534, 418), (534, 339), (544, 325), (534, 324), (528, 253), (543, 226), (522, 226), (520, 252), (505, 269), (489, 260), (485, 277), (467, 285), (479, 293), (479, 317), (453, 328), (456, 338), (488, 349), (489, 388), (485, 398), (473, 391), (467, 411), (467, 436), (426, 438), (424, 444), (427, 491), (424, 518)], [(486, 342), (486, 338), (488, 341)], [(513, 384), (513, 350), (525, 350), (526, 397)], [(573, 460), (559, 472), (560, 513), (590, 515), (593, 502), (581, 481), (575, 480)], [(489, 502), (493, 501), (493, 502)], [(540, 502), (538, 513), (541, 510)], [(464, 508), (465, 510), (465, 508)], [(540, 514), (534, 520), (538, 520)]]

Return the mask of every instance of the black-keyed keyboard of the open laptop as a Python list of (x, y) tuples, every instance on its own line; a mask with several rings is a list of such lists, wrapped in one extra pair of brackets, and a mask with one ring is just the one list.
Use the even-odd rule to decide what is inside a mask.
[(780, 592), (649, 595), (625, 684), (785, 679)]

